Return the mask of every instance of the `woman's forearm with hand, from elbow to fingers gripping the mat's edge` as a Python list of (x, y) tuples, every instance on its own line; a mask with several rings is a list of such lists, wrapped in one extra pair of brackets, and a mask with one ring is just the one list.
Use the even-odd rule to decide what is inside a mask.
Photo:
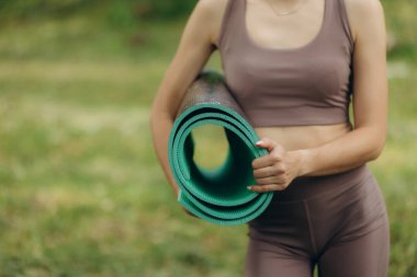
[(252, 161), (256, 193), (284, 191), (298, 176), (330, 175), (376, 159), (385, 143), (385, 128), (360, 127), (323, 146), (286, 151), (268, 137), (256, 142), (269, 154)]

